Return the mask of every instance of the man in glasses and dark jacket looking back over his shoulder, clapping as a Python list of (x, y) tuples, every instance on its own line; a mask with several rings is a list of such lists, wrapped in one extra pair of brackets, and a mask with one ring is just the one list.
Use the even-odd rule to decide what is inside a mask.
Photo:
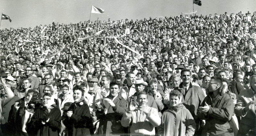
[(229, 125), (234, 113), (233, 100), (228, 93), (220, 94), (220, 77), (211, 77), (209, 85), (209, 94), (198, 108), (198, 117), (205, 120), (202, 135), (234, 135)]

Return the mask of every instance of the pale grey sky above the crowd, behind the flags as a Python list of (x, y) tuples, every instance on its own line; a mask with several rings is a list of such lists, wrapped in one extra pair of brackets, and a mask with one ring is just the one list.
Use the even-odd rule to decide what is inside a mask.
[[(201, 0), (202, 6), (194, 4), (196, 14), (224, 14), (256, 11), (256, 0)], [(0, 29), (32, 27), (59, 23), (88, 21), (92, 5), (105, 10), (105, 14), (92, 13), (91, 20), (143, 19), (156, 16), (177, 16), (193, 11), (193, 0), (0, 0), (3, 14)]]

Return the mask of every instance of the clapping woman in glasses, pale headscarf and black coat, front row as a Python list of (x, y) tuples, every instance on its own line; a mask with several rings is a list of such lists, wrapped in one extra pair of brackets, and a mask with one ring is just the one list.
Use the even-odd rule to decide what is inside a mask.
[(36, 136), (57, 136), (60, 127), (60, 109), (52, 107), (54, 103), (50, 93), (43, 96), (43, 107), (36, 109), (31, 119), (31, 135)]

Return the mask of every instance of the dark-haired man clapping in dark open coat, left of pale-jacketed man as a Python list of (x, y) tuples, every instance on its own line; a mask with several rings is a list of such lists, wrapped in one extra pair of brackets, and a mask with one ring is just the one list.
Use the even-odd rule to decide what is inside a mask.
[(124, 134), (121, 119), (127, 111), (128, 103), (118, 95), (120, 88), (118, 82), (111, 82), (108, 86), (110, 87), (110, 93), (105, 98), (95, 101), (95, 105), (97, 106), (96, 115), (100, 119), (98, 135)]

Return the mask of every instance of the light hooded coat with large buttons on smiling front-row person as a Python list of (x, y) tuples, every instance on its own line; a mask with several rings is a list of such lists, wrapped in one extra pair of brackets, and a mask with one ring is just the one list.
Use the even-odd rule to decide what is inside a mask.
[(188, 109), (180, 104), (177, 109), (164, 111), (157, 128), (158, 135), (162, 136), (193, 136), (196, 123)]

